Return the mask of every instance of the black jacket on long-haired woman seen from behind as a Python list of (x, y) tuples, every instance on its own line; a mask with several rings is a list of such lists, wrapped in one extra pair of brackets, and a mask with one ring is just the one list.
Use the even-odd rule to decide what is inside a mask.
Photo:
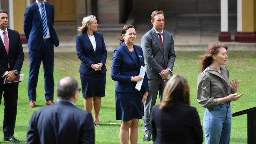
[(163, 111), (156, 105), (150, 116), (154, 144), (202, 144), (203, 131), (194, 107), (174, 104)]

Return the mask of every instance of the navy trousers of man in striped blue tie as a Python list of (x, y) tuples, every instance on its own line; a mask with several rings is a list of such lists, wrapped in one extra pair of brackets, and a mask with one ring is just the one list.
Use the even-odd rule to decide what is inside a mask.
[[(43, 41), (43, 40), (42, 40)], [(29, 49), (30, 71), (28, 76), (28, 98), (35, 101), (37, 80), (41, 61), (43, 61), (44, 78), (45, 78), (45, 100), (53, 100), (54, 94), (54, 49), (53, 42), (43, 42), (39, 50)]]

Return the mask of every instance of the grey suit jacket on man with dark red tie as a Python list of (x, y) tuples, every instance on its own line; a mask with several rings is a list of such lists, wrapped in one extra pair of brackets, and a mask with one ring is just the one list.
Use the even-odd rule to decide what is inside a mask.
[[(141, 39), (141, 48), (145, 58), (146, 72), (148, 79), (161, 79), (159, 73), (165, 68), (173, 71), (175, 52), (173, 35), (163, 30), (163, 50), (154, 28), (145, 33)], [(171, 73), (171, 76), (173, 74)]]

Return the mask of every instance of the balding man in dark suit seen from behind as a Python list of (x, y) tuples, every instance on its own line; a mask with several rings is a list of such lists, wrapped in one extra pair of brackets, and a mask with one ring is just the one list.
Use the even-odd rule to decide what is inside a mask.
[(27, 144), (94, 144), (91, 113), (75, 107), (77, 81), (69, 76), (59, 79), (58, 100), (33, 113), (28, 126)]

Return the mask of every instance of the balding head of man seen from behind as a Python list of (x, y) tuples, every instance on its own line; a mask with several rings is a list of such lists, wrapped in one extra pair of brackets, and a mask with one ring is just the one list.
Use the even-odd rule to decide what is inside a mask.
[(71, 100), (76, 102), (78, 98), (78, 82), (76, 79), (65, 76), (59, 79), (57, 84), (58, 99)]

